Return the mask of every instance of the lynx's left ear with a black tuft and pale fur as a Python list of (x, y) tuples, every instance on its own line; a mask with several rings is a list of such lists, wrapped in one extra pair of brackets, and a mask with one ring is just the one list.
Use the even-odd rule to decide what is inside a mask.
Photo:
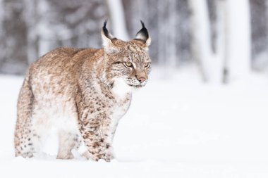
[(102, 43), (104, 46), (104, 51), (106, 53), (114, 53), (116, 52), (116, 46), (114, 45), (113, 41), (116, 40), (116, 38), (106, 29), (106, 24), (107, 20), (104, 21), (104, 25), (102, 27)]

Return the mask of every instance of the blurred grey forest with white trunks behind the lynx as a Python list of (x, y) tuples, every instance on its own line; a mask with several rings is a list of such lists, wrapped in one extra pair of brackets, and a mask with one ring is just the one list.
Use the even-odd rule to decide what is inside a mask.
[(0, 73), (23, 75), (59, 46), (102, 46), (109, 19), (128, 40), (145, 22), (155, 64), (195, 64), (204, 81), (268, 68), (268, 0), (0, 0)]

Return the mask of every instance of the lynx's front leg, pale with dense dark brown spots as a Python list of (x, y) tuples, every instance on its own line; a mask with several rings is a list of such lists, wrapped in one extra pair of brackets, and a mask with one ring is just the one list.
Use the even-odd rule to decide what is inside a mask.
[[(111, 140), (111, 119), (105, 112), (87, 113), (87, 109), (80, 117), (80, 133), (87, 151), (93, 160), (104, 159), (109, 162), (114, 158)], [(85, 116), (85, 117), (83, 117)]]

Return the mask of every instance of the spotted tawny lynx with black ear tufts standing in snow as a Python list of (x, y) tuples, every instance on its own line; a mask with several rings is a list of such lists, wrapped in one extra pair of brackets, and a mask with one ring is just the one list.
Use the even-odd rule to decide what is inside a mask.
[(39, 153), (49, 130), (56, 128), (57, 158), (74, 158), (72, 150), (81, 145), (88, 159), (114, 158), (118, 120), (151, 70), (151, 39), (142, 23), (135, 39), (124, 42), (113, 37), (105, 21), (102, 41), (102, 49), (58, 48), (30, 65), (18, 97), (16, 156)]

